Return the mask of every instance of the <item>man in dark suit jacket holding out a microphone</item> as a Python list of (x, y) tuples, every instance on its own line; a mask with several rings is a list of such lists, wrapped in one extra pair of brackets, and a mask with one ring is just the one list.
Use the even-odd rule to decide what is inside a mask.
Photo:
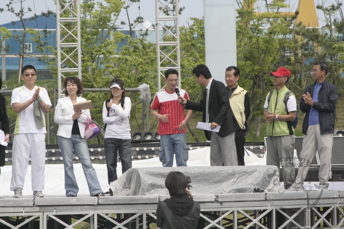
[(179, 102), (185, 104), (185, 109), (202, 111), (203, 122), (211, 123), (211, 129), (221, 126), (218, 133), (204, 130), (206, 139), (210, 140), (210, 165), (238, 165), (234, 119), (226, 87), (213, 79), (208, 67), (203, 64), (197, 65), (192, 73), (200, 86), (206, 86), (202, 100), (198, 103), (179, 97)]

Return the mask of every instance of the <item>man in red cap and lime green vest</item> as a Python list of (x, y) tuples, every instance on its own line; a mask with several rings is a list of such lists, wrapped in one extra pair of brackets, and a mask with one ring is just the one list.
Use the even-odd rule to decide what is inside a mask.
[[(264, 116), (266, 126), (266, 165), (282, 167), (284, 187), (286, 190), (292, 188), (295, 180), (294, 155), (294, 129), (292, 121), (295, 120), (297, 103), (294, 94), (286, 87), (290, 77), (290, 71), (280, 67), (274, 76), (275, 89), (266, 96), (264, 104)], [(271, 96), (270, 96), (270, 93)], [(287, 104), (285, 104), (286, 93), (289, 93)]]

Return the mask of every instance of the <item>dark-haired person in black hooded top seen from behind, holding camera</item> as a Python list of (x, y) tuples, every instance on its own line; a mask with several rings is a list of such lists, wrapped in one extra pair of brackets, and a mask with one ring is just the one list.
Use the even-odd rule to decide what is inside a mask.
[(200, 204), (192, 200), (187, 180), (181, 172), (170, 172), (165, 180), (170, 199), (161, 201), (156, 209), (156, 225), (160, 229), (196, 229)]

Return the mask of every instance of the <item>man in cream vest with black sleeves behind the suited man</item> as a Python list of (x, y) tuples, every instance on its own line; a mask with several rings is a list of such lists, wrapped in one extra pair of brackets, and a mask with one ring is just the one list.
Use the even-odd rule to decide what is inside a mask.
[(229, 96), (229, 104), (236, 120), (235, 147), (238, 158), (238, 165), (245, 165), (245, 134), (247, 129), (247, 119), (250, 116), (250, 96), (245, 89), (238, 85), (240, 69), (230, 66), (226, 69), (225, 80)]

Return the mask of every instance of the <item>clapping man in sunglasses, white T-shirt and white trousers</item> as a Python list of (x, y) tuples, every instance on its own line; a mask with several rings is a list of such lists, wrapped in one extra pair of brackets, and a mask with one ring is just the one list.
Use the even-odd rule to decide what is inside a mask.
[(22, 69), (24, 86), (12, 92), (11, 106), (17, 113), (12, 148), (11, 191), (13, 198), (21, 198), (25, 175), (31, 158), (31, 187), (33, 197), (44, 197), (45, 126), (44, 113), (52, 106), (44, 88), (35, 85), (36, 69), (26, 65)]

